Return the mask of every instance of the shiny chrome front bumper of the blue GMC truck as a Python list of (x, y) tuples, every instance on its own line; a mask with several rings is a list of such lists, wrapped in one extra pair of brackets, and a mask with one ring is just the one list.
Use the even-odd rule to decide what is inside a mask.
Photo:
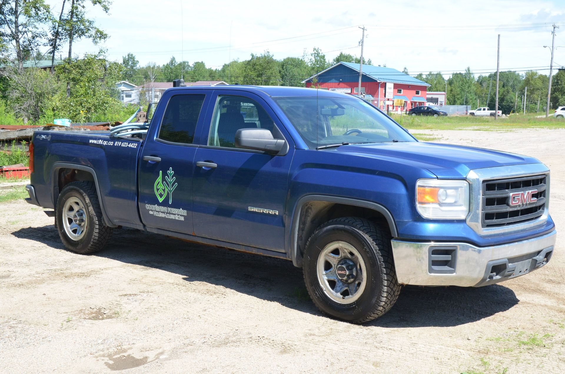
[(398, 282), (420, 286), (485, 286), (527, 274), (549, 262), (557, 232), (515, 243), (392, 240)]

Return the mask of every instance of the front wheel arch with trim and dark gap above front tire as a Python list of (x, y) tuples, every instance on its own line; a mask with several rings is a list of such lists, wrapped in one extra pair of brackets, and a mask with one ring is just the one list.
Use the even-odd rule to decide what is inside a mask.
[(290, 227), (290, 258), (294, 266), (302, 267), (302, 255), (308, 238), (321, 224), (336, 218), (357, 216), (388, 227), (392, 237), (398, 236), (390, 211), (378, 203), (333, 197), (306, 195), (298, 200)]

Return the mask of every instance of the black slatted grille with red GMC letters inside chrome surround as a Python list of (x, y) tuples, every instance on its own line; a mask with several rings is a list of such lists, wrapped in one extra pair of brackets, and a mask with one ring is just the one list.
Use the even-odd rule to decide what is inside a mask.
[(546, 175), (484, 180), (482, 227), (503, 227), (540, 218), (546, 206), (546, 181)]

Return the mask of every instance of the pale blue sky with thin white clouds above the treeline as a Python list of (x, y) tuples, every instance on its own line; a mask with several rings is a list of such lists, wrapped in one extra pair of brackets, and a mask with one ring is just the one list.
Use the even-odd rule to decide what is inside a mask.
[[(60, 9), (60, 0), (47, 3), (54, 12)], [(359, 55), (357, 25), (365, 25), (364, 55), (373, 64), (406, 66), (412, 74), (449, 74), (467, 66), (475, 72), (492, 71), (497, 34), (501, 34), (501, 69), (542, 69), (550, 60), (550, 51), (543, 46), (551, 45), (551, 27), (540, 25), (546, 22), (563, 22), (555, 45), (564, 47), (555, 51), (555, 63), (565, 65), (565, 0), (454, 0), (427, 5), (375, 0), (114, 0), (110, 15), (92, 6), (88, 12), (110, 34), (101, 45), (108, 57), (121, 61), (131, 52), (141, 65), (163, 64), (174, 55), (191, 64), (204, 61), (209, 67), (221, 67), (230, 59), (244, 60), (264, 50), (282, 59), (301, 56), (313, 47), (328, 59), (340, 50)], [(73, 45), (78, 55), (97, 49), (88, 41)]]

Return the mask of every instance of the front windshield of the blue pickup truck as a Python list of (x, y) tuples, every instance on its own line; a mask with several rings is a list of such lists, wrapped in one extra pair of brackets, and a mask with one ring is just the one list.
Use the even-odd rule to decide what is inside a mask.
[(311, 149), (391, 141), (415, 141), (364, 101), (333, 97), (273, 97)]

